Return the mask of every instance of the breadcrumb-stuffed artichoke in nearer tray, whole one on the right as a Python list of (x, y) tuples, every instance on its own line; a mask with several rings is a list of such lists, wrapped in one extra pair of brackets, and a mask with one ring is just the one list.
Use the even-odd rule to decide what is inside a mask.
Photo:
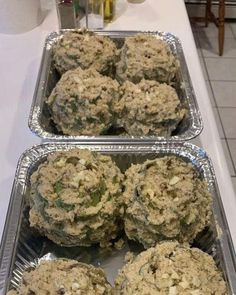
[(124, 184), (125, 232), (145, 248), (168, 239), (191, 242), (210, 223), (207, 184), (179, 157), (132, 165)]

